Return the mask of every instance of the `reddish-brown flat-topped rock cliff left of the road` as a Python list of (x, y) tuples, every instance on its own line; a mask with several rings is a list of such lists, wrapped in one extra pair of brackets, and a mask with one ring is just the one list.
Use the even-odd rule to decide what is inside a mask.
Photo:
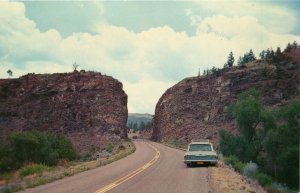
[[(0, 129), (64, 133), (79, 151), (127, 138), (122, 83), (93, 72), (0, 80)], [(0, 133), (1, 135), (1, 133)]]

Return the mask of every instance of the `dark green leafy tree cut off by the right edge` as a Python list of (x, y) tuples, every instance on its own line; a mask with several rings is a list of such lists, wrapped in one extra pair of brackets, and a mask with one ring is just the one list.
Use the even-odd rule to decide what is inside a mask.
[(281, 107), (274, 116), (280, 124), (269, 129), (264, 139), (266, 159), (270, 164), (266, 169), (276, 180), (298, 188), (300, 101)]

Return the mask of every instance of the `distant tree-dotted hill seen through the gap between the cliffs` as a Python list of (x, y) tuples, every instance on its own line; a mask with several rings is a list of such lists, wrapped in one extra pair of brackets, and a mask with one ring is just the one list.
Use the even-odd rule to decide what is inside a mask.
[(141, 113), (129, 113), (127, 127), (134, 130), (144, 130), (146, 126), (152, 124), (153, 115)]

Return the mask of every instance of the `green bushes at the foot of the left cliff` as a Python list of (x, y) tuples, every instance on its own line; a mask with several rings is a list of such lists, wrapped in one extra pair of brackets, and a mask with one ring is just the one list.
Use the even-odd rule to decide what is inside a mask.
[(70, 140), (63, 135), (39, 131), (14, 132), (0, 147), (0, 172), (20, 168), (26, 163), (56, 165), (61, 159), (77, 157)]

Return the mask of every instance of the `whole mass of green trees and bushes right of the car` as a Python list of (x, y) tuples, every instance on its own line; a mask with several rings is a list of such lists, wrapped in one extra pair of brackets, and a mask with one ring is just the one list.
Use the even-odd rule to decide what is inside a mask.
[(300, 100), (267, 110), (260, 93), (250, 90), (238, 97), (229, 113), (235, 117), (240, 133), (220, 131), (220, 149), (229, 156), (227, 161), (234, 162), (239, 171), (244, 167), (240, 161), (257, 163), (265, 173), (256, 175), (262, 183), (270, 184), (269, 175), (274, 181), (298, 189)]

